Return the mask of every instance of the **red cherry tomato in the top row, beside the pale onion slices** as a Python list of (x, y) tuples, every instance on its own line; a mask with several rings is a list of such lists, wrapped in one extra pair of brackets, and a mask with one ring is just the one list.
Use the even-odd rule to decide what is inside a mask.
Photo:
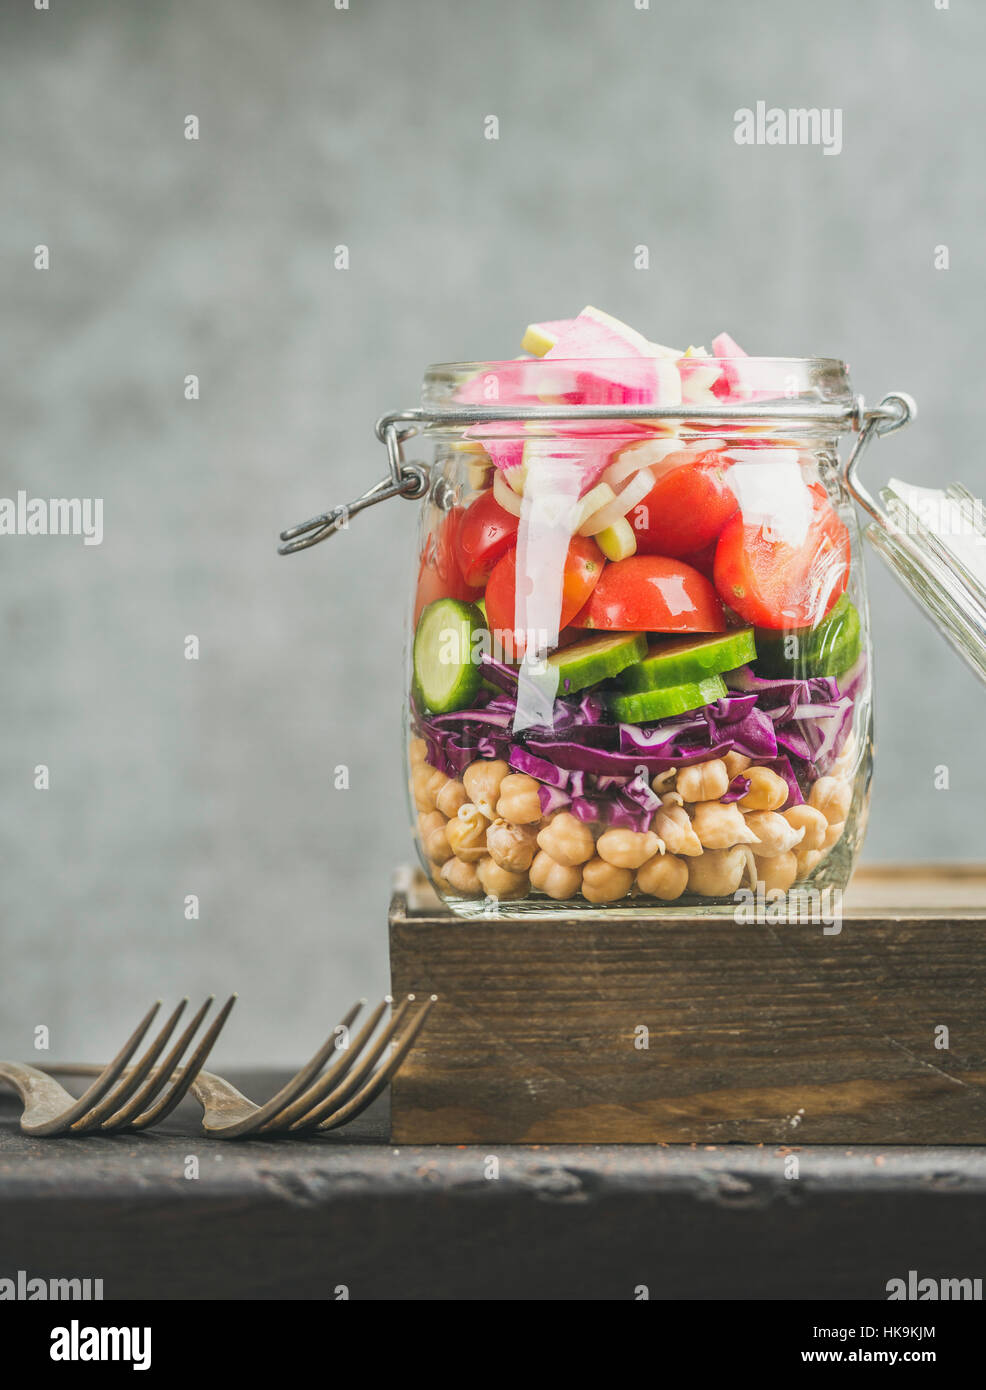
[(681, 559), (715, 541), (736, 512), (727, 473), (729, 464), (713, 449), (669, 453), (661, 477), (629, 516), (637, 553)]

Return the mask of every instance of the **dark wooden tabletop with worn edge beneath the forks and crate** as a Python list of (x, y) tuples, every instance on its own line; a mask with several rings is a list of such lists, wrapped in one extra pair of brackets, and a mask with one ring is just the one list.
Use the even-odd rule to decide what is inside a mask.
[(886, 1298), (908, 1269), (986, 1262), (982, 1148), (395, 1150), (385, 1101), (316, 1140), (204, 1140), (193, 1105), (31, 1140), (18, 1113), (0, 1095), (0, 1276), (107, 1298)]

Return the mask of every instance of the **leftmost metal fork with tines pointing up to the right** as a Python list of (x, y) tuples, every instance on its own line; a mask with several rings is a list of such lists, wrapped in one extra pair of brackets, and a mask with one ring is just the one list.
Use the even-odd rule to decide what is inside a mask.
[[(22, 1062), (0, 1062), (0, 1081), (13, 1086), (24, 1101), (22, 1131), (47, 1137), (88, 1134), (93, 1130), (111, 1134), (122, 1129), (145, 1130), (157, 1125), (165, 1115), (171, 1113), (195, 1083), (236, 1002), (236, 995), (232, 994), (227, 999), (195, 1052), (182, 1066), (181, 1059), (185, 1049), (197, 1033), (213, 1001), (214, 995), (210, 994), (159, 1068), (154, 1068), (154, 1063), (167, 1047), (188, 999), (181, 1001), (135, 1066), (129, 1066), (129, 1062), (161, 1006), (160, 999), (147, 1011), (120, 1052), (104, 1068), (42, 1069), (26, 1066)], [(53, 1076), (49, 1076), (47, 1070), (75, 1072), (76, 1074), (95, 1076), (96, 1080), (76, 1099)], [(154, 1099), (156, 1097), (157, 1099)]]

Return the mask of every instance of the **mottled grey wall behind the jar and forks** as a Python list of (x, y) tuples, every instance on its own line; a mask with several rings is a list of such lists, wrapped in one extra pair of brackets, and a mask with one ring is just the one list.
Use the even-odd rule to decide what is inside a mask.
[[(235, 987), (223, 1055), (286, 1061), (385, 988), (414, 513), (291, 560), (275, 535), (378, 474), (373, 421), (426, 363), (587, 302), (665, 342), (725, 327), (911, 391), (875, 477), (986, 485), (982, 7), (25, 0), (0, 25), (0, 495), (106, 509), (102, 546), (0, 539), (0, 1055), (46, 1023), (99, 1056), (147, 998)], [(843, 152), (738, 147), (757, 100), (843, 108)], [(869, 571), (866, 852), (979, 858), (986, 692)]]

